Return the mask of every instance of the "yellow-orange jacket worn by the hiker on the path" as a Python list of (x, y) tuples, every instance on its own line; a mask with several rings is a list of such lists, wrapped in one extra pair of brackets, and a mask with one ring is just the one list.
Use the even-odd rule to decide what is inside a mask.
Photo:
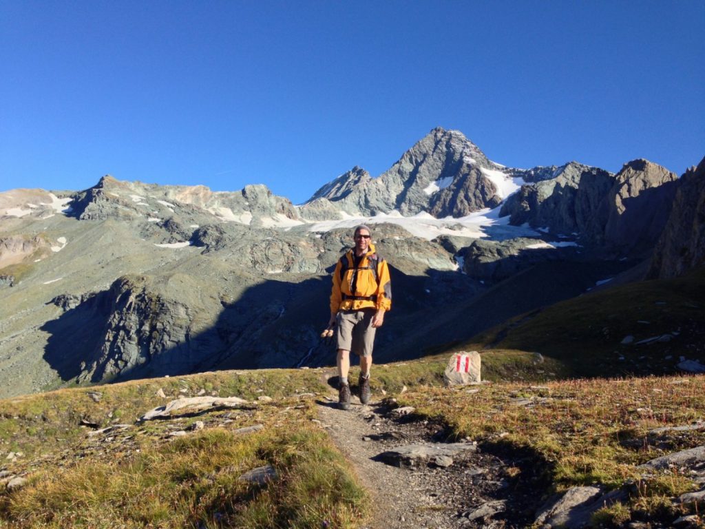
[[(376, 262), (376, 267), (374, 263)], [(338, 260), (333, 272), (331, 314), (338, 310), (376, 308), (389, 310), (392, 306), (392, 289), (387, 262), (376, 255), (370, 243), (357, 268), (353, 250), (348, 250)], [(357, 277), (355, 277), (357, 276)], [(352, 291), (355, 281), (355, 292)]]

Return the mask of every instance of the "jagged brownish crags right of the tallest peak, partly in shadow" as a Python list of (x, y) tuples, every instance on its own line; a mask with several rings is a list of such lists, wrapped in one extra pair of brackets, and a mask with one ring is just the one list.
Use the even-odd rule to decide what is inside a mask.
[(532, 183), (505, 201), (501, 216), (510, 215), (514, 225), (580, 234), (586, 243), (619, 255), (646, 255), (653, 248), (677, 180), (643, 159), (625, 164), (617, 175), (570, 162), (530, 169), (524, 178)]

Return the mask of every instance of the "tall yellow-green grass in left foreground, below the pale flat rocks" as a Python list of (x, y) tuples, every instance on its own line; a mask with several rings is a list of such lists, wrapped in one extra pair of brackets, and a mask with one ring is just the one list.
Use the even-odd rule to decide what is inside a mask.
[[(264, 430), (226, 427), (142, 442), (126, 458), (90, 459), (32, 473), (16, 493), (0, 496), (0, 518), (16, 528), (352, 528), (366, 493), (310, 410), (271, 406)], [(265, 485), (238, 479), (271, 465)]]

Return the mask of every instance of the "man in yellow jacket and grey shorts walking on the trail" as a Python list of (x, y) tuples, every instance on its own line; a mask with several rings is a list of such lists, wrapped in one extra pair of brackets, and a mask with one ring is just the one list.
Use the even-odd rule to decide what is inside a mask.
[(338, 402), (350, 409), (350, 351), (360, 355), (360, 402), (369, 402), (369, 370), (372, 367), (374, 333), (384, 323), (384, 312), (391, 308), (391, 283), (387, 262), (376, 255), (367, 226), (355, 228), (355, 248), (338, 260), (333, 272), (331, 320), (336, 324), (338, 342)]

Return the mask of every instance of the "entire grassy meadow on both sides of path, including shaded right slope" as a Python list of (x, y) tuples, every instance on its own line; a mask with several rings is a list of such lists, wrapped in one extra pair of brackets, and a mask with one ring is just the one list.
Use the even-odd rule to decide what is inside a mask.
[[(507, 479), (530, 482), (537, 506), (575, 485), (601, 485), (626, 494), (595, 526), (668, 523), (693, 509), (672, 501), (696, 490), (692, 475), (638, 466), (705, 444), (705, 429), (656, 430), (705, 420), (705, 376), (675, 368), (680, 356), (702, 355), (704, 278), (599, 291), (442, 353), (375, 366), (373, 394), (414, 406), (413, 418), (438, 422), (448, 439), (519, 461)], [(667, 333), (670, 341), (621, 343)], [(487, 383), (443, 387), (450, 353), (463, 349), (481, 351)], [(335, 398), (333, 375), (210, 372), (0, 401), (0, 470), (27, 479), (15, 490), (0, 485), (0, 528), (364, 527), (367, 492), (317, 421), (316, 401)], [(248, 402), (138, 422), (197, 395)], [(202, 429), (189, 431), (197, 421)], [(275, 477), (240, 480), (262, 466)]]

